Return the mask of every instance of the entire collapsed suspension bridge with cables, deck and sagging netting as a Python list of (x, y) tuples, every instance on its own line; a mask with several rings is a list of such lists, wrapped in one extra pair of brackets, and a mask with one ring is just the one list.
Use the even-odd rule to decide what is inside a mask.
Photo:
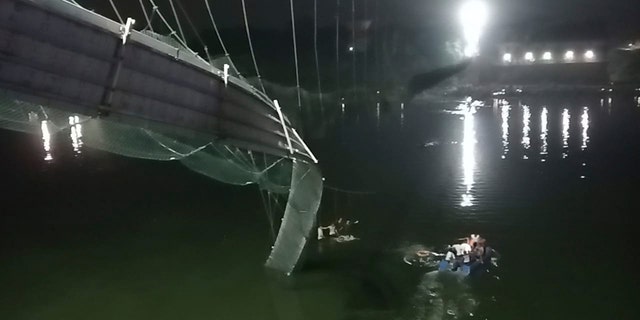
[[(0, 2), (0, 39), (6, 40), (0, 41), (0, 127), (40, 134), (45, 143), (71, 130), (78, 145), (179, 161), (224, 183), (258, 185), (274, 236), (266, 265), (291, 274), (314, 229), (323, 178), (317, 158), (266, 94), (244, 0), (260, 88), (232, 62), (209, 0), (202, 9), (223, 49), (219, 59), (210, 55), (180, 0), (170, 0), (168, 10), (154, 0), (138, 3), (141, 23), (121, 15), (113, 0), (118, 21), (71, 0)], [(293, 0), (290, 8), (297, 57)], [(190, 49), (185, 21), (204, 59)], [(157, 33), (157, 23), (169, 34)], [(298, 72), (296, 58), (300, 106)], [(45, 150), (51, 161), (50, 147)], [(276, 233), (274, 212), (283, 207)]]

